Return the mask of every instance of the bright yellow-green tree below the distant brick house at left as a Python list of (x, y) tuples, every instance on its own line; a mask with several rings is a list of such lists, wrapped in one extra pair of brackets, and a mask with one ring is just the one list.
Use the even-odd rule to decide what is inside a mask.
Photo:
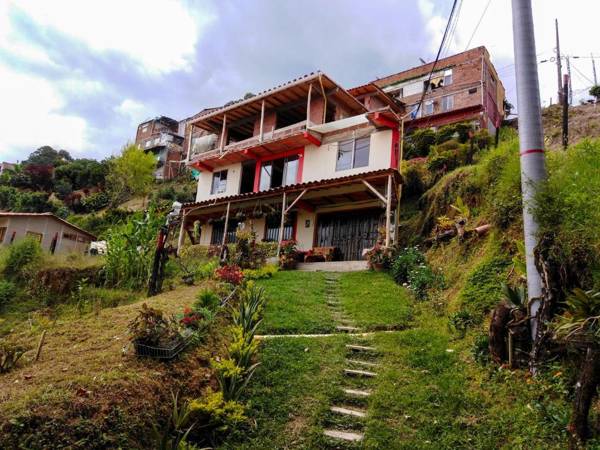
[(106, 177), (112, 203), (127, 196), (146, 195), (154, 181), (156, 159), (135, 144), (123, 147), (121, 156), (109, 160)]

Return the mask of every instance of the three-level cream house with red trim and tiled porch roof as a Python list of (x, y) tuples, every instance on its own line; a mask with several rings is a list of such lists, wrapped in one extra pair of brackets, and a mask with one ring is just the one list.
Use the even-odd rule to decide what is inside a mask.
[(201, 244), (221, 245), (241, 226), (361, 259), (379, 227), (393, 239), (404, 112), (375, 84), (350, 93), (321, 72), (202, 111), (187, 123), (200, 176), (180, 235), (197, 224)]

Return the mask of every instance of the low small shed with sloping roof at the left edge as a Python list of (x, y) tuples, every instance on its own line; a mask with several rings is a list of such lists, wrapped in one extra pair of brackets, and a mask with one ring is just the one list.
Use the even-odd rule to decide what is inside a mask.
[(0, 245), (10, 245), (26, 236), (40, 242), (50, 253), (85, 253), (96, 236), (52, 213), (0, 211)]

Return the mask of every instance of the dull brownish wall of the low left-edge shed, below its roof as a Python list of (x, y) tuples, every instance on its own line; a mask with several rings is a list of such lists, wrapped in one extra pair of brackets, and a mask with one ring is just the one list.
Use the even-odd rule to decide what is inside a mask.
[[(0, 242), (1, 245), (10, 245), (13, 233), (15, 235), (13, 242), (16, 242), (27, 236), (28, 231), (42, 235), (40, 243), (42, 249), (46, 251), (50, 251), (54, 236), (58, 236), (56, 253), (83, 253), (90, 242), (87, 235), (51, 216), (0, 217), (0, 227), (6, 227), (4, 240)], [(74, 239), (69, 239), (69, 235), (73, 236)]]

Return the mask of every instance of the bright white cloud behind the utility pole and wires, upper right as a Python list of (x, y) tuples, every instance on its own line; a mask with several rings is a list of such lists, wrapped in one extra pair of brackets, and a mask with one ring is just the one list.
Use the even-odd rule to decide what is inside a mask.
[[(488, 2), (463, 0), (462, 3), (458, 25), (446, 53), (448, 55), (466, 49)], [(427, 30), (430, 37), (430, 51), (435, 54), (446, 26), (450, 7), (436, 7), (432, 0), (419, 0), (418, 4), (421, 14), (428, 20)], [(581, 15), (581, 11), (585, 11), (587, 17), (597, 17), (600, 14), (600, 2), (571, 0), (569, 7), (565, 8), (564, 2), (559, 0), (533, 0), (535, 39), (539, 60), (549, 59), (554, 55), (555, 17), (559, 17), (560, 21), (561, 51), (563, 55), (582, 55), (586, 57), (571, 59), (572, 84), (575, 92), (574, 103), (587, 97), (587, 90), (592, 84), (592, 64), (587, 57), (591, 52), (600, 57), (600, 46), (597, 40), (591, 39), (589, 32), (586, 32), (583, 28), (585, 18)], [(487, 47), (507, 89), (509, 99), (516, 104), (514, 65), (512, 65), (513, 35), (510, 2), (491, 0), (490, 6), (469, 47), (473, 48), (480, 45)], [(598, 63), (600, 64), (600, 59)], [(558, 89), (556, 66), (550, 62), (540, 64), (538, 73), (542, 102), (548, 104), (550, 97), (553, 97), (553, 101), (556, 102)], [(565, 64), (563, 64), (563, 73), (566, 73)]]

